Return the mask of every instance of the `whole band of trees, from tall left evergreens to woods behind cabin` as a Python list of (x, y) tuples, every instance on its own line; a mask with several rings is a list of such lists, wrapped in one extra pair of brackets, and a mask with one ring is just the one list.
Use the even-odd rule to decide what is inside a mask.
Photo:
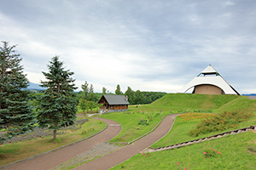
[[(41, 81), (40, 86), (45, 90), (32, 94), (24, 90), (29, 82), (15, 47), (8, 42), (0, 47), (0, 144), (35, 127), (53, 129), (55, 140), (58, 129), (74, 124), (78, 106), (88, 112), (98, 106), (96, 102), (102, 94), (111, 94), (107, 88), (102, 88), (102, 94), (94, 93), (93, 85), (86, 81), (79, 94), (74, 93), (74, 72), (65, 70), (59, 56), (49, 61), (47, 72), (42, 71), (46, 81)], [(149, 104), (166, 93), (133, 91), (128, 87), (123, 94), (118, 85), (115, 94), (128, 96), (131, 105), (139, 105)]]

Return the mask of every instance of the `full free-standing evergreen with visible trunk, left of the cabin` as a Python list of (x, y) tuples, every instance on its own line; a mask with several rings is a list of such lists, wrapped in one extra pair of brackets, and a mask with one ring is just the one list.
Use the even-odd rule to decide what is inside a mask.
[(41, 81), (41, 87), (44, 95), (39, 99), (38, 123), (39, 127), (49, 127), (54, 130), (53, 139), (56, 139), (57, 130), (61, 127), (67, 127), (74, 124), (76, 119), (77, 103), (73, 90), (71, 76), (73, 72), (63, 68), (63, 62), (58, 56), (51, 59), (48, 65), (49, 72), (44, 72), (44, 77), (48, 80)]

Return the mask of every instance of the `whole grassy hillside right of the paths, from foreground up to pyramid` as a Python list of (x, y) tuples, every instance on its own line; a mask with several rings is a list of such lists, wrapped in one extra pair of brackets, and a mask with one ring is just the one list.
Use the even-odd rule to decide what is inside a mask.
[[(167, 94), (151, 105), (142, 105), (138, 108), (139, 111), (162, 111), (164, 114), (178, 110), (203, 112), (209, 111), (209, 109), (217, 114), (191, 112), (177, 116), (172, 130), (151, 147), (157, 148), (192, 139), (201, 139), (234, 128), (249, 127), (255, 125), (256, 122), (256, 99), (247, 99), (247, 96)], [(251, 116), (247, 117), (247, 115)], [(205, 116), (208, 121), (212, 120), (211, 123), (203, 124), (205, 127), (214, 123), (214, 120), (237, 124), (236, 127), (227, 126), (229, 129), (218, 129), (218, 132), (211, 131), (206, 134), (201, 133), (197, 137), (190, 136), (191, 129), (197, 127), (201, 122), (207, 122), (203, 118), (201, 119)], [(228, 116), (228, 118), (224, 118), (224, 116)], [(239, 121), (239, 117), (245, 119)], [(111, 169), (253, 169), (256, 165), (255, 148), (254, 132), (238, 133), (175, 150), (137, 154)]]

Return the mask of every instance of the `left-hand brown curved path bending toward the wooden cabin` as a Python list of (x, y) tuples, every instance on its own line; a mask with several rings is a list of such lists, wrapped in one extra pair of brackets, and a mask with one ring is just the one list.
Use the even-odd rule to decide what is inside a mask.
[(102, 142), (107, 142), (110, 139), (113, 139), (121, 131), (121, 126), (119, 123), (113, 122), (108, 119), (102, 119), (103, 122), (108, 124), (108, 127), (102, 132), (97, 134), (96, 136), (86, 139), (77, 144), (69, 145), (61, 150), (56, 150), (46, 154), (44, 156), (39, 156), (35, 159), (24, 161), (17, 163), (13, 166), (9, 166), (5, 169), (11, 170), (45, 170), (56, 167), (61, 163), (69, 161), (73, 157), (83, 153), (86, 150), (90, 150), (96, 144), (100, 144)]

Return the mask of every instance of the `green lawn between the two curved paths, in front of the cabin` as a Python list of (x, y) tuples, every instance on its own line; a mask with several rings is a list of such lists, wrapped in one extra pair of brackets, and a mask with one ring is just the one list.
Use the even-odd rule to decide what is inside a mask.
[[(152, 112), (134, 112), (131, 110), (127, 112), (108, 113), (101, 117), (119, 122), (122, 125), (121, 132), (111, 139), (110, 142), (131, 142), (131, 140), (148, 133), (162, 118), (160, 114), (154, 114)], [(138, 125), (140, 120), (148, 120), (148, 117), (152, 119), (152, 121), (149, 121), (148, 126)]]

